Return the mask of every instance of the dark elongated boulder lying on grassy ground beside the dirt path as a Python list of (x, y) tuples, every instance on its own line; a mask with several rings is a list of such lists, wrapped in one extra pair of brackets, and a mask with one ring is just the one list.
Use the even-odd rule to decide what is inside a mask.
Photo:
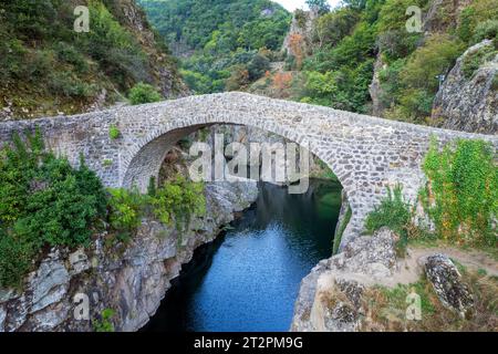
[(430, 256), (425, 260), (425, 273), (440, 302), (465, 317), (474, 298), (452, 260), (444, 254)]

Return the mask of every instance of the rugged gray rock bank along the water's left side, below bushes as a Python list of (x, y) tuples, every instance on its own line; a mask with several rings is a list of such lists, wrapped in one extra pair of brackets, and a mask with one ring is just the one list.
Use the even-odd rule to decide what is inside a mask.
[[(129, 244), (107, 247), (101, 235), (86, 250), (53, 250), (25, 280), (24, 291), (0, 291), (0, 331), (93, 331), (92, 321), (113, 309), (116, 331), (145, 325), (194, 250), (219, 233), (258, 196), (255, 181), (206, 187), (207, 212), (179, 233), (174, 227), (143, 220)], [(90, 320), (76, 320), (84, 294)]]

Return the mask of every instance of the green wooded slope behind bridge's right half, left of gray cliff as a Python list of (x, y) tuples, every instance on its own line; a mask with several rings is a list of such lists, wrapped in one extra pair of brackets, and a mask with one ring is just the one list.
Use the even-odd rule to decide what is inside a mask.
[[(428, 0), (343, 2), (344, 7), (319, 15), (312, 37), (302, 39), (310, 51), (303, 55), (302, 66), (293, 67), (304, 76), (302, 90), (297, 87), (297, 100), (369, 113), (369, 86), (377, 62), (383, 115), (425, 123), (439, 81), (467, 48), (495, 39), (495, 51), (468, 63), (469, 75), (473, 67), (497, 53), (497, 0), (476, 0), (467, 6), (443, 0), (437, 7)], [(414, 32), (406, 30), (409, 15), (405, 12), (411, 6), (426, 14)]]

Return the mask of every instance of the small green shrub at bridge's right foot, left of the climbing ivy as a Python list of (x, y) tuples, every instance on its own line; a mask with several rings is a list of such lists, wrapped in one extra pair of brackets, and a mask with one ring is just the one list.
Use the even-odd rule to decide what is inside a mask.
[(412, 207), (403, 198), (403, 189), (396, 186), (394, 190), (387, 188), (387, 196), (381, 200), (365, 220), (365, 229), (373, 233), (383, 227), (387, 227), (400, 236), (396, 250), (400, 256), (406, 251), (408, 230), (412, 223)]

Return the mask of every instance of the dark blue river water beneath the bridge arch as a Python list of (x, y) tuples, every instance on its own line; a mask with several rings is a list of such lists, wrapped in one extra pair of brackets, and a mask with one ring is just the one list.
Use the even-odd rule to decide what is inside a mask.
[(301, 279), (331, 244), (341, 187), (312, 180), (304, 195), (263, 184), (256, 205), (199, 248), (145, 331), (288, 331)]

